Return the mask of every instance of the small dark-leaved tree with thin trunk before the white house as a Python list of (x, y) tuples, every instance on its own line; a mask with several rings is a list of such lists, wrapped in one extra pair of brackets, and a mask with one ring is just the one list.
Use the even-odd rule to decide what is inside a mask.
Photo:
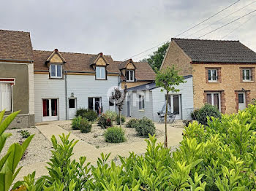
[(127, 94), (127, 86), (125, 86), (124, 90), (121, 89), (121, 87), (116, 87), (114, 89), (114, 93), (111, 96), (111, 99), (114, 101), (118, 108), (119, 112), (119, 125), (121, 128), (121, 110), (123, 109), (124, 99)]

